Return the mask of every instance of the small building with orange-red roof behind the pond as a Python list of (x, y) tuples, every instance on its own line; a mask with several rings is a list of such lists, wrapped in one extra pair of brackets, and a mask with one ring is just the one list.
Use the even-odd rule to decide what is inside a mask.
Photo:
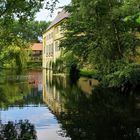
[(30, 61), (31, 62), (41, 62), (42, 61), (42, 43), (34, 43), (31, 46)]

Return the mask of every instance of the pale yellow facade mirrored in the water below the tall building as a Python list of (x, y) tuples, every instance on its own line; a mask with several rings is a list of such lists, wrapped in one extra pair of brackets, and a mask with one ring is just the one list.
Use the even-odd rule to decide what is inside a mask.
[(46, 71), (46, 69), (43, 69), (43, 101), (53, 113), (59, 114), (64, 111), (60, 90), (58, 90), (56, 84), (53, 83), (51, 71)]

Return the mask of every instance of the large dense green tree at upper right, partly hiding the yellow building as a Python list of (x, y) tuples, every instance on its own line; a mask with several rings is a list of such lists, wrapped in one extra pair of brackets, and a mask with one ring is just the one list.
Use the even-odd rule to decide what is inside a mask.
[(89, 62), (103, 80), (133, 62), (138, 46), (135, 24), (124, 21), (139, 12), (139, 0), (73, 0), (64, 24), (61, 47), (71, 50), (79, 62)]

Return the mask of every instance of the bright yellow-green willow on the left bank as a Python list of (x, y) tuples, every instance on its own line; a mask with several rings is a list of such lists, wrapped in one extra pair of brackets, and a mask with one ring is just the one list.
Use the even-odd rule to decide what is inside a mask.
[(24, 42), (20, 38), (15, 38), (10, 45), (3, 48), (0, 53), (1, 65), (8, 68), (26, 67), (28, 60), (27, 49), (29, 43)]

